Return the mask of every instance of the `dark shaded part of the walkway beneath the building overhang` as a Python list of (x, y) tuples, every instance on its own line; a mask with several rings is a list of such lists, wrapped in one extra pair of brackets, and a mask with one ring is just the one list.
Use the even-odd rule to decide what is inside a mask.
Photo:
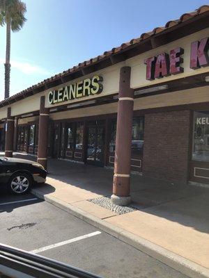
[[(24, 156), (26, 158), (26, 156)], [(34, 157), (32, 157), (34, 159)], [(27, 157), (30, 159), (30, 156)], [(113, 170), (50, 158), (48, 177), (53, 181), (40, 190), (51, 193), (53, 183), (65, 183), (91, 193), (112, 194)], [(173, 184), (132, 174), (131, 197), (139, 211), (145, 211), (172, 222), (178, 222), (209, 234), (209, 190), (196, 186)]]

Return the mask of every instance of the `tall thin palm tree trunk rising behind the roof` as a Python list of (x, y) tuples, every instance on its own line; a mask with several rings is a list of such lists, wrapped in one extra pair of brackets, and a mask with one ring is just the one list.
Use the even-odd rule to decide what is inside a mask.
[(6, 22), (6, 62), (5, 67), (5, 90), (4, 99), (10, 96), (10, 34), (11, 34), (11, 22)]

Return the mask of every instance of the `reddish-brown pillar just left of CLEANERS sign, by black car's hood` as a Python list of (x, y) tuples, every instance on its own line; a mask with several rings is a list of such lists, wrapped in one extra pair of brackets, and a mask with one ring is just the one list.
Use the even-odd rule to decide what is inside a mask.
[(45, 108), (45, 97), (40, 97), (40, 115), (38, 126), (38, 158), (37, 162), (47, 169), (49, 108)]

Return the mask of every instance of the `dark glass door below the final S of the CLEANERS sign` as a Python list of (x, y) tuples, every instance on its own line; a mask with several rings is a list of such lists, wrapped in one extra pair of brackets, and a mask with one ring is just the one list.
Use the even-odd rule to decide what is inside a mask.
[(104, 124), (98, 121), (87, 126), (86, 162), (88, 164), (104, 165)]

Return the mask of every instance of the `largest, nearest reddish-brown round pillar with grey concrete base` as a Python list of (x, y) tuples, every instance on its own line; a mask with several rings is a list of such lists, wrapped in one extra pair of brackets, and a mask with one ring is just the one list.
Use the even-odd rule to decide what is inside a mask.
[(111, 201), (121, 206), (129, 204), (131, 201), (130, 164), (134, 90), (130, 88), (130, 72), (130, 67), (121, 68), (118, 94), (113, 195), (111, 195)]

